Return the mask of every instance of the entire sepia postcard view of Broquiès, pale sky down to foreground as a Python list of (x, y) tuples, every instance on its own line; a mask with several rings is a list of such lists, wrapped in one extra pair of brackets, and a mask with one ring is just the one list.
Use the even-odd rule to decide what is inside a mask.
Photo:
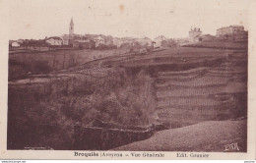
[(250, 3), (8, 4), (7, 151), (248, 153)]

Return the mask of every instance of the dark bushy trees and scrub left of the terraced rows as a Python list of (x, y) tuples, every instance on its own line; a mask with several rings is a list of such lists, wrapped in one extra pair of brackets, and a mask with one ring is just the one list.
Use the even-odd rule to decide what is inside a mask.
[[(103, 79), (82, 75), (41, 85), (10, 85), (9, 133), (27, 133), (23, 132), (22, 141), (10, 136), (8, 148), (23, 148), (25, 142), (54, 149), (72, 148), (71, 128), (77, 124), (90, 125), (95, 118), (121, 125), (148, 126), (153, 123), (156, 106), (152, 83), (146, 72), (130, 77), (119, 69)], [(53, 130), (45, 130), (45, 125)], [(32, 132), (34, 128), (40, 132)]]

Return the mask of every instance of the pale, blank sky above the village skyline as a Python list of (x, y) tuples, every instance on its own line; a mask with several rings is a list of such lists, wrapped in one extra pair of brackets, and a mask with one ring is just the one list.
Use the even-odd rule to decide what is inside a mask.
[(230, 25), (248, 27), (249, 0), (10, 0), (10, 39), (41, 39), (69, 32), (116, 37), (187, 37)]

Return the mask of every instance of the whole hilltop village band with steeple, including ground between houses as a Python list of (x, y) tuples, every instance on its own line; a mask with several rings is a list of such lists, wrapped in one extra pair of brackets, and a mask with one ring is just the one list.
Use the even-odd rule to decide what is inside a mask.
[(130, 47), (131, 51), (147, 52), (156, 48), (171, 46), (189, 46), (201, 42), (246, 42), (248, 31), (243, 26), (229, 26), (217, 29), (216, 35), (204, 34), (203, 31), (194, 27), (188, 31), (185, 38), (166, 38), (160, 35), (152, 40), (149, 37), (113, 37), (103, 34), (76, 34), (73, 18), (69, 24), (69, 34), (61, 36), (45, 36), (44, 39), (18, 39), (10, 40), (10, 51), (35, 50), (47, 51), (56, 49), (116, 49)]

